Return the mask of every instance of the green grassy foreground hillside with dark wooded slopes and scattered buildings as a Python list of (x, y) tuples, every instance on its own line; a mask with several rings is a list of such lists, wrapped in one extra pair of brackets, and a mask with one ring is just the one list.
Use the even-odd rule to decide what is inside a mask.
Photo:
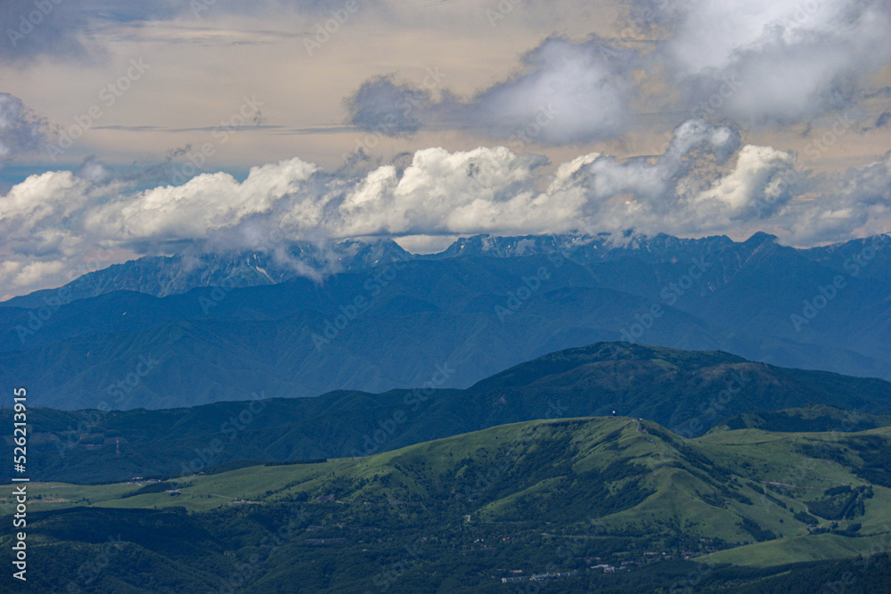
[(887, 452), (888, 427), (686, 440), (632, 418), (539, 420), (168, 484), (30, 484), (29, 538), (57, 590), (84, 551), (113, 546), (91, 591), (216, 589), (238, 567), (244, 592), (494, 592), (508, 570), (578, 572), (560, 591), (669, 591), (690, 566), (707, 570), (701, 591), (732, 591), (886, 550)]

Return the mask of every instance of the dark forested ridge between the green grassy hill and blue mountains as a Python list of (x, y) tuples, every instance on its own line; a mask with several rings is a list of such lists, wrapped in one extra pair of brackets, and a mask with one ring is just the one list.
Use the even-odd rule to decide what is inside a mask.
[[(179, 476), (238, 460), (364, 455), (505, 423), (612, 411), (687, 437), (715, 425), (773, 428), (775, 422), (753, 419), (783, 414), (789, 425), (790, 417), (802, 415), (773, 411), (808, 404), (856, 412), (832, 413), (822, 425), (799, 423), (793, 430), (879, 427), (863, 419), (891, 413), (891, 383), (883, 380), (630, 343), (547, 354), (465, 390), (421, 386), (376, 395), (260, 396), (159, 411), (35, 407), (29, 411), (30, 468), (42, 480), (84, 483)], [(748, 416), (740, 421), (743, 413)], [(11, 415), (11, 409), (0, 409), (0, 421), (12, 422)]]

